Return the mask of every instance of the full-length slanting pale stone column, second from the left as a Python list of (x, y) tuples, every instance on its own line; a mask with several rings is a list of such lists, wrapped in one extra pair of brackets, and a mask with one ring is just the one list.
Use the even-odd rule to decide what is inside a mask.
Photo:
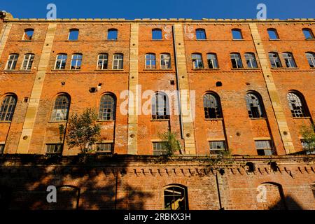
[(31, 136), (34, 129), (38, 105), (41, 98), (41, 90), (43, 89), (45, 74), (49, 64), (50, 52), (52, 50), (52, 43), (55, 38), (56, 27), (56, 23), (50, 23), (48, 25), (45, 41), (43, 43), (43, 50), (39, 59), (36, 78), (31, 90), (31, 97), (29, 99), (29, 105), (27, 107), (27, 113), (25, 116), (17, 153), (28, 153), (29, 151), (29, 144), (31, 142)]

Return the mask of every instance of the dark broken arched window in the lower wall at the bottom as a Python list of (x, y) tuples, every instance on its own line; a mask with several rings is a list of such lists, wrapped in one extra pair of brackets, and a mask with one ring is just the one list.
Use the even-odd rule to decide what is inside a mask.
[(180, 185), (169, 185), (164, 189), (165, 210), (188, 210), (187, 188)]

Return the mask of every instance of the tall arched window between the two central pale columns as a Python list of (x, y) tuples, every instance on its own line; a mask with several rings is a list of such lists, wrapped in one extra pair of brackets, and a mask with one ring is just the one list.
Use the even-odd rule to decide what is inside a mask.
[(169, 99), (164, 92), (157, 92), (152, 98), (153, 120), (169, 119)]

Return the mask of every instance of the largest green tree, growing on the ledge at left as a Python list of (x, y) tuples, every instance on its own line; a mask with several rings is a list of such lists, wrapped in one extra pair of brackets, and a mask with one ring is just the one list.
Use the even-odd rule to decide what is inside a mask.
[(69, 118), (68, 131), (66, 133), (66, 143), (69, 148), (79, 147), (81, 153), (91, 153), (92, 146), (100, 136), (101, 127), (96, 123), (97, 114), (93, 109), (85, 109), (78, 115), (74, 113)]

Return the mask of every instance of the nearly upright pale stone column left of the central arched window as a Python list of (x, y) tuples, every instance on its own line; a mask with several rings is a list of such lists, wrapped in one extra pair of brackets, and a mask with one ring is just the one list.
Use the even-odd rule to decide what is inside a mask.
[[(139, 24), (132, 23), (130, 27), (130, 73), (128, 102), (128, 146), (127, 154), (137, 155), (138, 134), (138, 47), (139, 47)], [(141, 94), (141, 93), (140, 93)]]

